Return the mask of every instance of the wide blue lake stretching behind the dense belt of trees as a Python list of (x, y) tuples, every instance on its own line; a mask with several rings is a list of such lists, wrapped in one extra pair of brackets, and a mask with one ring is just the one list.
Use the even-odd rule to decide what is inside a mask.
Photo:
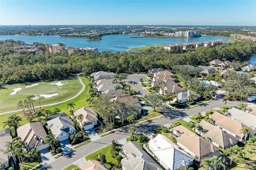
[(0, 35), (0, 40), (13, 39), (21, 40), (27, 44), (34, 42), (38, 43), (62, 43), (70, 47), (93, 47), (98, 48), (99, 52), (123, 52), (125, 49), (140, 47), (144, 45), (157, 44), (179, 44), (179, 43), (193, 43), (201, 41), (217, 41), (227, 39), (223, 37), (207, 37), (201, 36), (197, 38), (130, 38), (135, 35), (107, 35), (102, 36), (101, 40), (90, 41), (86, 38), (63, 38), (57, 35), (54, 36), (14, 36), (14, 35)]

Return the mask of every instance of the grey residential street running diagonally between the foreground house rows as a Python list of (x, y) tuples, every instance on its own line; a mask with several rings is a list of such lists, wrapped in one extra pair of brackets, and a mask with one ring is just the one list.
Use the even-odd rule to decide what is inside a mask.
[[(227, 105), (237, 105), (241, 104), (239, 101), (228, 101)], [(221, 99), (217, 99), (212, 101), (209, 104), (205, 104), (203, 106), (198, 106), (196, 108), (190, 109), (185, 112), (181, 111), (174, 111), (173, 109), (170, 108), (164, 108), (164, 116), (163, 118), (160, 118), (158, 120), (153, 120), (149, 121), (143, 124), (140, 124), (136, 126), (136, 132), (137, 133), (149, 133), (152, 129), (157, 128), (158, 126), (166, 125), (168, 126), (170, 123), (179, 120), (180, 118), (185, 118), (194, 114), (197, 114), (198, 112), (205, 112), (209, 109), (216, 108), (223, 106), (224, 103), (221, 101)], [(73, 164), (76, 162), (78, 159), (82, 159), (88, 154), (91, 154), (92, 152), (105, 147), (111, 143), (112, 140), (122, 140), (124, 138), (129, 137), (130, 134), (126, 130), (124, 132), (116, 132), (107, 135), (106, 137), (103, 137), (97, 141), (88, 143), (87, 145), (77, 149), (74, 151), (73, 155), (70, 155), (68, 157), (60, 157), (53, 162), (47, 164), (46, 166), (43, 166), (41, 169), (62, 169), (65, 168), (66, 166)], [(84, 158), (85, 159), (85, 158)]]

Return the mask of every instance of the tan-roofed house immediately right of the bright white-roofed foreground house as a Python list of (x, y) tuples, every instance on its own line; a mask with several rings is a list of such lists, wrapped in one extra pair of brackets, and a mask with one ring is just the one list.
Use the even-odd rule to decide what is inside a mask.
[(173, 128), (177, 145), (199, 162), (206, 157), (222, 156), (217, 147), (180, 125)]

